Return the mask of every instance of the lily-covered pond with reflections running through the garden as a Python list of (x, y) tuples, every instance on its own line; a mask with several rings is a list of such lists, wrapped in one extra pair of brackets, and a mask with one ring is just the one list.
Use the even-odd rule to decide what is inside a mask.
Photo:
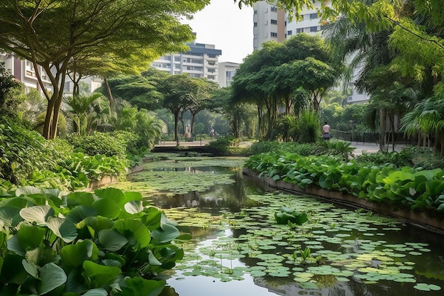
[[(163, 155), (113, 187), (142, 192), (193, 239), (162, 296), (443, 295), (443, 236), (315, 197), (265, 192), (243, 158)], [(282, 207), (305, 213), (277, 224)]]

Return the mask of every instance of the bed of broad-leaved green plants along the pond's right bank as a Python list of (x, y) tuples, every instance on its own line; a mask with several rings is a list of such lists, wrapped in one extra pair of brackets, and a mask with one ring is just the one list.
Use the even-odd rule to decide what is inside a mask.
[(301, 188), (316, 185), (399, 208), (434, 214), (444, 212), (444, 171), (440, 168), (362, 166), (355, 160), (344, 162), (328, 156), (294, 153), (252, 155), (245, 167)]

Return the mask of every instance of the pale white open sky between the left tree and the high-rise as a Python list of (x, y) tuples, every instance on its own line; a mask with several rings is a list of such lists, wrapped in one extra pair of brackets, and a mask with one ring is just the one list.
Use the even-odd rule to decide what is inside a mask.
[(219, 62), (243, 62), (252, 53), (252, 7), (239, 9), (233, 0), (211, 0), (205, 8), (184, 20), (196, 33), (196, 43), (222, 50)]

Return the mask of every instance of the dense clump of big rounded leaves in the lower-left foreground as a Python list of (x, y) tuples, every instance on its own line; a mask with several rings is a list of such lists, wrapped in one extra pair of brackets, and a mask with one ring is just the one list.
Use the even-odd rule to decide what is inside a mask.
[(155, 296), (184, 256), (177, 224), (138, 192), (21, 187), (0, 204), (2, 295)]

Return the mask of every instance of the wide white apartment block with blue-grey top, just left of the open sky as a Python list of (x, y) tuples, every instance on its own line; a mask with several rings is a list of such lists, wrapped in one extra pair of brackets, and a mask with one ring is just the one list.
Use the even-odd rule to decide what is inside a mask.
[(206, 78), (218, 82), (218, 57), (222, 50), (215, 45), (203, 43), (187, 43), (189, 51), (162, 55), (151, 63), (157, 70), (170, 74), (187, 73), (191, 77)]

